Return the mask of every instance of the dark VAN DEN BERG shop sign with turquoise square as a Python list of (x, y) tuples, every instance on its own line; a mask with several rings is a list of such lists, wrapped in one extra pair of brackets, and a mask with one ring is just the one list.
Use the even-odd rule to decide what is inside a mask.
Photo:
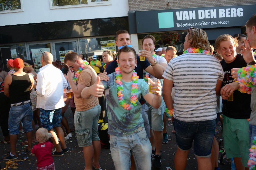
[(137, 33), (194, 28), (239, 27), (256, 13), (256, 5), (136, 11)]

